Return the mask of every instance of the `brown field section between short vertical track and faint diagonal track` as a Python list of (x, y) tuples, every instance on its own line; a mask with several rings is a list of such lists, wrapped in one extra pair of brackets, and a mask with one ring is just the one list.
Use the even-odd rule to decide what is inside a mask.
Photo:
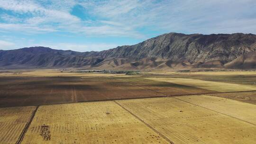
[[(125, 78), (86, 78), (74, 84), (77, 101), (130, 99), (165, 96), (160, 92), (138, 87)], [(131, 78), (131, 80), (133, 80)]]

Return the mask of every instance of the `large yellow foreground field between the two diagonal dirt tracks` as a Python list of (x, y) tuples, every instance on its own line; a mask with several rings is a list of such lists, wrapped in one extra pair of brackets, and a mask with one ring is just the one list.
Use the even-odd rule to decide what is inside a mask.
[(21, 144), (169, 144), (113, 101), (40, 106)]

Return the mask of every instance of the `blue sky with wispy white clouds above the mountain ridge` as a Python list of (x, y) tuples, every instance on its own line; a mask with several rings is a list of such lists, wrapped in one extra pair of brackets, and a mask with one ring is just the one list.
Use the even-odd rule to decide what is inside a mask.
[(0, 0), (0, 49), (79, 52), (161, 34), (256, 34), (256, 0)]

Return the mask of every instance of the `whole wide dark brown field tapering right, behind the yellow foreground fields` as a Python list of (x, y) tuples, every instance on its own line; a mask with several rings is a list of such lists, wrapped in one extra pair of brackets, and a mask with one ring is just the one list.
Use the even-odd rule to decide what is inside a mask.
[(146, 80), (140, 77), (5, 76), (0, 77), (0, 88), (0, 107), (215, 92), (169, 82)]

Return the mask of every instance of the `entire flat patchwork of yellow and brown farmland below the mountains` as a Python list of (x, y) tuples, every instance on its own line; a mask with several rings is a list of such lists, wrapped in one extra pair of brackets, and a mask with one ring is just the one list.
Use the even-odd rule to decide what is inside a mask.
[(255, 80), (255, 72), (1, 71), (0, 144), (253, 144)]

